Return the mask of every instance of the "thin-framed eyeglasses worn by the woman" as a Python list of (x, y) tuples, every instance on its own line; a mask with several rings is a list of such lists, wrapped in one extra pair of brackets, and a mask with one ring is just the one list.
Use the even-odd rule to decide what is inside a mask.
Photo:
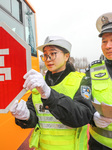
[(56, 54), (57, 53), (62, 53), (62, 52), (52, 52), (50, 53), (49, 55), (47, 54), (43, 54), (43, 55), (40, 55), (42, 61), (47, 61), (47, 59), (49, 58), (50, 60), (55, 60), (56, 59)]

